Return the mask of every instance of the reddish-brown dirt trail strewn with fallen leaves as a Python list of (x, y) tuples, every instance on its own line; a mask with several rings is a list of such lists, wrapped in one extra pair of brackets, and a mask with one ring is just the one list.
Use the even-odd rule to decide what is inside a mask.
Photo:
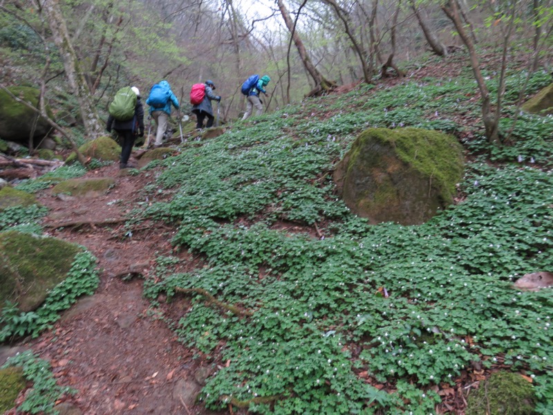
[[(113, 165), (85, 176), (115, 177), (108, 194), (59, 199), (45, 190), (38, 196), (49, 209), (44, 223), (122, 219), (147, 200), (141, 190), (153, 183), (154, 175), (129, 176)], [(78, 390), (67, 402), (82, 414), (212, 414), (194, 404), (203, 382), (199, 360), (191, 358), (193, 353), (176, 341), (165, 323), (147, 316), (142, 280), (120, 278), (131, 270), (147, 275), (156, 257), (173, 253), (174, 230), (153, 223), (141, 228), (131, 237), (124, 236), (123, 222), (50, 228), (49, 234), (79, 243), (97, 257), (100, 287), (95, 295), (79, 299), (53, 330), (23, 346), (51, 362), (60, 385)]]

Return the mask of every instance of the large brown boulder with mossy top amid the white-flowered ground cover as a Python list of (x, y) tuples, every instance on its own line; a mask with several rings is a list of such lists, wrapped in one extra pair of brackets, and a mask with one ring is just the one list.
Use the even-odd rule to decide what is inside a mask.
[(373, 128), (337, 164), (337, 190), (371, 223), (415, 225), (453, 202), (464, 160), (456, 138), (440, 131)]

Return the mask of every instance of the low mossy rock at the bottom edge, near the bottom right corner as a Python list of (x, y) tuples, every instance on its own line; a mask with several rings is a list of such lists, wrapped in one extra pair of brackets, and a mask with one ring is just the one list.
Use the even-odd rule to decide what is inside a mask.
[(498, 371), (467, 398), (466, 415), (532, 415), (534, 387), (521, 375)]

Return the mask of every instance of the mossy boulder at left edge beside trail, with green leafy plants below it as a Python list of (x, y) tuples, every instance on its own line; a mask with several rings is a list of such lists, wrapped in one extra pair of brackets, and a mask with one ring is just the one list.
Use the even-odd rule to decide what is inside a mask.
[(0, 233), (0, 304), (35, 310), (48, 291), (62, 282), (82, 248), (52, 237), (8, 231)]

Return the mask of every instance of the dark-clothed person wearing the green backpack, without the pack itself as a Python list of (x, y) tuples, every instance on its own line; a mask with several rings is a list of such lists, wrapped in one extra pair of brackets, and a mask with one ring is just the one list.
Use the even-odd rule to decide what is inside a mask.
[(144, 107), (140, 100), (140, 91), (136, 86), (131, 88), (136, 95), (136, 104), (134, 107), (134, 116), (130, 120), (118, 120), (115, 116), (109, 115), (106, 129), (111, 133), (113, 128), (116, 133), (122, 138), (121, 158), (119, 162), (120, 169), (134, 167), (129, 164), (129, 157), (133, 149), (136, 136), (144, 137)]

